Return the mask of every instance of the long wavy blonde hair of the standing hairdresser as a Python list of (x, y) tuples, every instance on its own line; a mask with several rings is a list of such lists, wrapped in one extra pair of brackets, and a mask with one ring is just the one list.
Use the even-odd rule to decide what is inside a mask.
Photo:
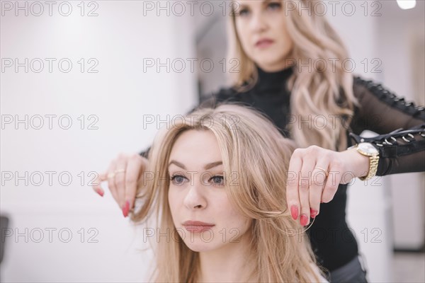
[[(293, 62), (326, 62), (339, 59), (343, 62), (348, 58), (346, 47), (335, 30), (329, 25), (324, 16), (316, 15), (314, 4), (320, 0), (283, 0), (292, 1), (290, 11), (285, 11), (288, 33), (293, 40), (294, 47), (290, 55)], [(283, 5), (283, 8), (286, 5)], [(237, 7), (237, 6), (233, 6)], [(311, 11), (302, 10), (310, 7)], [(311, 13), (311, 16), (309, 16)], [(244, 52), (236, 31), (235, 13), (229, 17), (228, 54), (229, 58), (240, 60), (239, 72), (232, 74), (230, 83), (239, 91), (251, 88), (257, 81), (256, 65)], [(331, 59), (331, 60), (329, 60)], [(318, 61), (314, 61), (318, 60)], [(288, 60), (290, 62), (290, 60)], [(346, 129), (349, 125), (353, 108), (357, 100), (353, 95), (353, 76), (344, 71), (341, 64), (336, 69), (324, 65), (312, 68), (310, 71), (301, 71), (296, 63), (293, 66), (293, 75), (288, 80), (291, 91), (290, 110), (296, 121), (310, 121), (309, 124), (295, 123), (290, 125), (290, 133), (300, 147), (310, 145), (322, 146), (325, 149), (343, 150), (347, 146)], [(300, 71), (299, 71), (300, 70)], [(314, 117), (326, 119), (317, 127), (311, 126)], [(318, 120), (317, 120), (318, 121)]]

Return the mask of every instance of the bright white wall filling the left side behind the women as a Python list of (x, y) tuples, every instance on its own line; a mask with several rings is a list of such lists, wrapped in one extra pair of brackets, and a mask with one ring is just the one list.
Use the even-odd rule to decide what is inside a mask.
[[(13, 6), (16, 3), (11, 2)], [(28, 8), (33, 4), (19, 3), (27, 3)], [(1, 129), (4, 175), (0, 212), (11, 219), (11, 230), (2, 231), (6, 250), (1, 280), (143, 282), (152, 255), (137, 253), (135, 247), (141, 246), (141, 238), (134, 236), (108, 190), (101, 198), (87, 185), (89, 172), (105, 170), (121, 151), (137, 152), (151, 144), (157, 127), (153, 124), (143, 129), (144, 115), (161, 114), (166, 119), (165, 114), (185, 112), (197, 103), (195, 74), (188, 68), (182, 73), (173, 69), (166, 73), (165, 68), (144, 72), (142, 67), (145, 58), (166, 62), (166, 58), (195, 57), (193, 17), (166, 16), (164, 11), (164, 16), (157, 16), (156, 11), (144, 10), (142, 1), (96, 1), (91, 6), (84, 2), (85, 13), (96, 8), (98, 16), (91, 17), (80, 16), (79, 2), (72, 1), (72, 13), (61, 16), (57, 10), (60, 3), (53, 6), (52, 16), (47, 5), (41, 16), (25, 16), (25, 11), (15, 16), (8, 6), (1, 10), (1, 58), (18, 58), (20, 62), (25, 58), (57, 58), (52, 73), (45, 61), (40, 73), (31, 69), (26, 73), (20, 67), (17, 73), (5, 68), (0, 74), (2, 120), (8, 115), (33, 117), (28, 129), (23, 124), (15, 129), (14, 123)], [(30, 11), (38, 13), (38, 7), (33, 8)], [(66, 6), (61, 11), (67, 13)], [(57, 67), (62, 58), (73, 64), (69, 73)], [(86, 67), (91, 66), (88, 59), (96, 59), (98, 72), (81, 73), (80, 58), (85, 59)], [(34, 129), (40, 121), (35, 115), (44, 117), (41, 129)], [(45, 115), (57, 115), (52, 129)], [(60, 128), (57, 119), (61, 115), (71, 117), (72, 127)], [(85, 115), (84, 129), (77, 120), (81, 115)], [(89, 120), (89, 115), (94, 118)], [(66, 127), (67, 121), (62, 122)], [(88, 129), (91, 122), (96, 122), (92, 126), (98, 129)], [(45, 171), (55, 171), (51, 185)], [(19, 180), (15, 185), (16, 178), (7, 180), (8, 172), (13, 177), (28, 172), (33, 180), (27, 178), (28, 185)], [(39, 186), (40, 175), (35, 172), (44, 178)], [(61, 185), (60, 173), (71, 175), (72, 183)], [(56, 229), (52, 243), (50, 228)], [(58, 236), (60, 229), (65, 229), (62, 237)], [(25, 236), (6, 237), (12, 231), (27, 234), (28, 243)], [(67, 240), (67, 231), (72, 238), (62, 243)]]

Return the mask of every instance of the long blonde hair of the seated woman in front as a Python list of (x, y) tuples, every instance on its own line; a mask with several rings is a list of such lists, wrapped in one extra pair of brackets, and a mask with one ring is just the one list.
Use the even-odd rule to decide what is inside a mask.
[[(211, 131), (217, 138), (225, 173), (229, 201), (252, 219), (249, 228), (250, 279), (256, 282), (311, 282), (319, 280), (319, 270), (306, 234), (293, 221), (286, 203), (286, 179), (293, 141), (285, 139), (273, 123), (259, 112), (241, 105), (203, 108), (162, 129), (149, 151), (147, 172), (158, 174), (140, 184), (137, 197), (144, 204), (133, 221), (157, 215), (159, 229), (176, 233), (168, 203), (171, 149), (179, 135), (188, 130)], [(227, 176), (237, 172), (237, 182)], [(297, 232), (297, 233), (295, 233)], [(157, 282), (198, 281), (199, 256), (179, 241), (159, 241), (156, 253)]]

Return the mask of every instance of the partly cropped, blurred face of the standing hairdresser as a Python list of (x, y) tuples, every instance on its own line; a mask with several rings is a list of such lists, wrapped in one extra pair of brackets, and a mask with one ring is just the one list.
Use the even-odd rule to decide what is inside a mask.
[(236, 1), (236, 30), (245, 53), (264, 71), (288, 67), (293, 40), (283, 1)]

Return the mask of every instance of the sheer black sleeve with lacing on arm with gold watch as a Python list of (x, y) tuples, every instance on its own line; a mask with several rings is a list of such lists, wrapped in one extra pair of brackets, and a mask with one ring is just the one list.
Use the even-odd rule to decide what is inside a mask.
[[(358, 108), (350, 135), (358, 143), (367, 141), (380, 151), (377, 175), (425, 171), (425, 109), (407, 103), (373, 81), (356, 77), (353, 84)], [(377, 137), (359, 137), (363, 130)]]

